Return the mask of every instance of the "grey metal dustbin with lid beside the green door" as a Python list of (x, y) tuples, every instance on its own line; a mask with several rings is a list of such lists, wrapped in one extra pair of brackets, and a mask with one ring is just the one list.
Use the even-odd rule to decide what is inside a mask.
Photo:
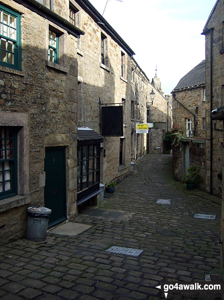
[(46, 239), (50, 215), (51, 210), (47, 207), (31, 206), (27, 208), (27, 240), (44, 241)]

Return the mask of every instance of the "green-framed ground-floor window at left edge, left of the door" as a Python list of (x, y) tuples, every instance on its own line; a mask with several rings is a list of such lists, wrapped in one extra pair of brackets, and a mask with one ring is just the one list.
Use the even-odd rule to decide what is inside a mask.
[(0, 199), (17, 193), (16, 132), (0, 127)]

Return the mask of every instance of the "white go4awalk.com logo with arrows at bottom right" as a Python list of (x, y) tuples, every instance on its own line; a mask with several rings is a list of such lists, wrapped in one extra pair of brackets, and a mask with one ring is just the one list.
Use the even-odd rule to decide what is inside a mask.
[(156, 287), (164, 292), (165, 298), (168, 293), (222, 293), (222, 282), (183, 282), (183, 281), (164, 281), (161, 285)]

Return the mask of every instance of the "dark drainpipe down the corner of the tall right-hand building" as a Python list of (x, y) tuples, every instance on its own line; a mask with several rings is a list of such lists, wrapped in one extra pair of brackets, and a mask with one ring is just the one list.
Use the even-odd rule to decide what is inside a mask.
[[(213, 57), (212, 57), (212, 46), (213, 46), (213, 30), (214, 27), (210, 29), (206, 29), (202, 34), (206, 35), (210, 33), (210, 116), (212, 113), (212, 99), (213, 99), (213, 91), (212, 91), (212, 67), (213, 67)], [(210, 194), (212, 194), (212, 168), (213, 168), (213, 130), (212, 130), (212, 119), (210, 119)]]

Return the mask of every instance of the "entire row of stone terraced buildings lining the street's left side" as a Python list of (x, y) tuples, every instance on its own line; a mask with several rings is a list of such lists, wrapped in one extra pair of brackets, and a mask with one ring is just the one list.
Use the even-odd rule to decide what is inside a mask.
[(53, 226), (74, 219), (100, 183), (130, 174), (147, 153), (135, 128), (147, 123), (152, 86), (89, 1), (3, 0), (0, 9), (5, 243), (25, 235), (28, 206), (50, 208)]

